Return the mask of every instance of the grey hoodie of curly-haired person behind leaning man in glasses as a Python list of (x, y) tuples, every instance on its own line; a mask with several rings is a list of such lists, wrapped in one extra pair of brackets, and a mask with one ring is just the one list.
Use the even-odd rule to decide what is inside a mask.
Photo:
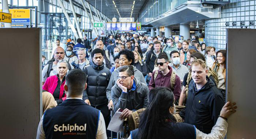
[[(136, 67), (133, 67), (133, 70), (134, 70), (134, 78), (144, 84), (147, 84), (143, 74)], [(106, 92), (107, 96), (111, 96), (111, 88), (116, 84), (117, 76), (119, 76), (119, 68), (117, 68), (111, 74), (109, 85), (107, 87), (107, 92)]]

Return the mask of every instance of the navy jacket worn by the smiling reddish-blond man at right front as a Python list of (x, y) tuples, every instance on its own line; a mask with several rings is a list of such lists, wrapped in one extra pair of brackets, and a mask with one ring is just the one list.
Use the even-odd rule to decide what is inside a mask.
[(184, 123), (193, 124), (206, 134), (211, 133), (225, 102), (214, 82), (206, 76), (207, 83), (196, 90), (193, 80), (189, 83), (185, 111), (180, 112)]

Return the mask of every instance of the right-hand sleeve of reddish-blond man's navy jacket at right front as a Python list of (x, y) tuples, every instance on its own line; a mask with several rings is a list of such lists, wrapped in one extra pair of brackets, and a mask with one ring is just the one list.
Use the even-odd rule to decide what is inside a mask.
[[(216, 91), (219, 91), (219, 90), (216, 89)], [(210, 115), (211, 115), (212, 121), (214, 121), (214, 124), (217, 122), (218, 116), (224, 105), (225, 105), (225, 102), (221, 93), (219, 93), (218, 95), (215, 95), (210, 105)]]

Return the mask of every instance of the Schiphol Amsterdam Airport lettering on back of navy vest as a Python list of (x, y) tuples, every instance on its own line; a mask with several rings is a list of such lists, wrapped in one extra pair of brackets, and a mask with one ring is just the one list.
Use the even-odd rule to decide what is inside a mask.
[(65, 124), (62, 124), (62, 126), (59, 126), (58, 124), (54, 125), (54, 132), (57, 131), (69, 131), (69, 133), (63, 133), (63, 135), (85, 135), (85, 133), (71, 133), (72, 131), (86, 131), (86, 124), (84, 124), (84, 126), (78, 126), (76, 124), (74, 125), (67, 125), (65, 126)]

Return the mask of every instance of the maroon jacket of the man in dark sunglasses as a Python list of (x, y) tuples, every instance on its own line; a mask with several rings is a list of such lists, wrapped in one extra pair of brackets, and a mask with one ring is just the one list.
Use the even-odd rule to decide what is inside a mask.
[[(158, 75), (157, 78), (154, 80), (154, 74), (155, 71), (152, 73), (150, 82), (148, 84), (148, 88), (149, 90), (155, 88), (155, 87), (167, 87), (167, 88), (171, 88), (171, 75), (172, 75), (172, 67), (168, 66), (168, 69), (170, 70), (170, 72), (168, 74), (166, 74), (165, 76), (162, 74), (161, 71), (158, 70)], [(173, 94), (174, 94), (174, 98), (175, 100), (178, 100), (180, 98), (180, 93), (181, 93), (181, 82), (180, 82), (180, 78), (179, 76), (176, 75), (175, 78), (175, 84), (174, 84), (174, 90)]]

